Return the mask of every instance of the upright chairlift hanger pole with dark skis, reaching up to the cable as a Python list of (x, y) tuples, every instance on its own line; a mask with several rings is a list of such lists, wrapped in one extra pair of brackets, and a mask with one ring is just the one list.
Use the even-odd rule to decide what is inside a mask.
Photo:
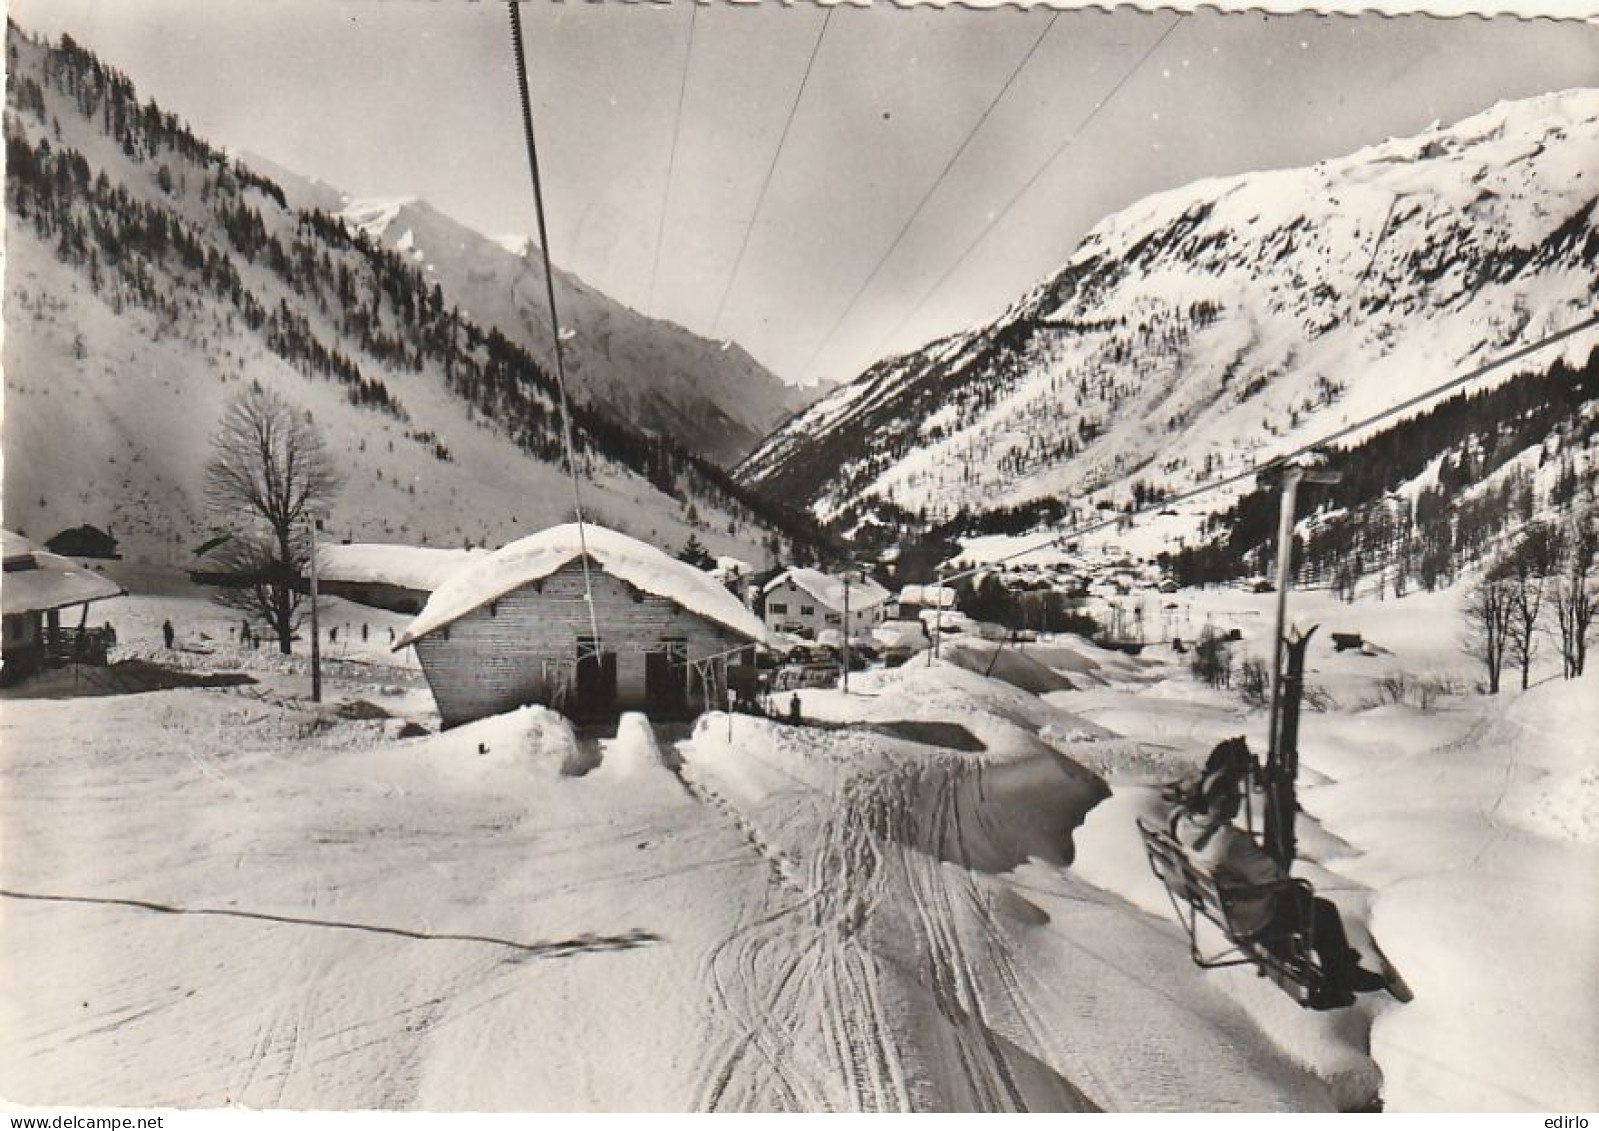
[[(1260, 486), (1276, 486), (1281, 491), (1278, 512), (1278, 611), (1271, 635), (1271, 717), (1266, 747), (1266, 853), (1284, 869), (1294, 861), (1294, 809), (1298, 805), (1294, 793), (1294, 777), (1298, 773), (1297, 734), (1284, 734), (1282, 681), (1284, 649), (1294, 672), (1294, 729), (1298, 729), (1298, 693), (1305, 670), (1305, 646), (1310, 633), (1289, 641), (1287, 613), (1289, 587), (1294, 584), (1294, 506), (1300, 483), (1337, 483), (1338, 472), (1327, 466), (1321, 453), (1305, 453), (1295, 459), (1268, 467), (1260, 474)], [(1314, 632), (1314, 629), (1311, 629)], [(1287, 741), (1284, 741), (1287, 739)], [(1294, 747), (1294, 749), (1289, 749)]]

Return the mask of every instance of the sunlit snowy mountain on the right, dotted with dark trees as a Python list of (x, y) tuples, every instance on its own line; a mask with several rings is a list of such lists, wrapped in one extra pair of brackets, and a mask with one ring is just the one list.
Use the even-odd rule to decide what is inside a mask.
[(844, 525), (1182, 490), (1591, 315), (1596, 200), (1596, 90), (1159, 194), (993, 323), (814, 405), (739, 475)]

